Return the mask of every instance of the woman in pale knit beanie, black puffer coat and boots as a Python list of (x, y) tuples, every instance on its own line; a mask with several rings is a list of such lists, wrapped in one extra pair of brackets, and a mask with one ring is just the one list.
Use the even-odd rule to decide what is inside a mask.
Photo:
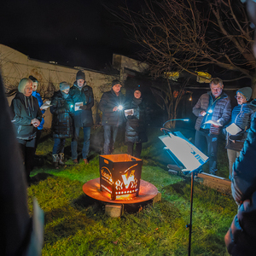
[(52, 149), (53, 163), (56, 169), (59, 164), (64, 166), (64, 147), (67, 137), (73, 137), (73, 102), (69, 96), (70, 86), (67, 82), (60, 83), (60, 90), (55, 91), (49, 108), (52, 116), (51, 129), (54, 137)]

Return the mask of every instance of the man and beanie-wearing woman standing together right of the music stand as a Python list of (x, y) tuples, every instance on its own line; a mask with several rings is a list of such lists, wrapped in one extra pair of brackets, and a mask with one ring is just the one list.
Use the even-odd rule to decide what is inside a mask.
[[(223, 81), (212, 79), (210, 89), (209, 92), (201, 95), (193, 108), (193, 113), (197, 116), (195, 146), (203, 151), (207, 145), (209, 173), (215, 175), (217, 172), (218, 136), (223, 132), (226, 137), (231, 178), (232, 166), (247, 138), (247, 130), (250, 128), (256, 110), (256, 101), (249, 102), (253, 92), (252, 88), (243, 87), (236, 91), (237, 106), (231, 111), (230, 96), (223, 91)], [(232, 127), (234, 131), (228, 129), (229, 127)]]

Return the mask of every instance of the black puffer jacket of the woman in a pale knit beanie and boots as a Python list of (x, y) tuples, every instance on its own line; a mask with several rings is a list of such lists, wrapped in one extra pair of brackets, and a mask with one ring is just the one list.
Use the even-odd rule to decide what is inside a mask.
[(53, 137), (66, 138), (73, 137), (73, 105), (70, 96), (65, 99), (61, 90), (55, 91), (51, 98), (51, 107), (49, 108), (52, 116), (51, 129)]

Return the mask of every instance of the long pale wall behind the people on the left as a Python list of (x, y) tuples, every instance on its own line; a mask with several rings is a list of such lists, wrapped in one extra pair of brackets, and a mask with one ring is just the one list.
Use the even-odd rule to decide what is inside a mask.
[[(3, 84), (7, 90), (18, 87), (20, 79), (27, 78), (29, 75), (38, 79), (38, 92), (45, 99), (49, 98), (54, 90), (59, 90), (59, 84), (66, 81), (71, 86), (76, 78), (79, 69), (85, 73), (86, 83), (89, 84), (95, 96), (95, 107), (92, 109), (93, 117), (96, 120), (97, 103), (100, 101), (102, 92), (111, 88), (111, 82), (116, 76), (108, 75), (94, 70), (84, 69), (83, 67), (64, 67), (46, 61), (30, 59), (27, 55), (15, 49), (0, 44), (0, 68), (3, 77)], [(13, 96), (9, 97), (9, 104)], [(51, 125), (51, 114), (49, 109), (44, 113), (45, 128)]]

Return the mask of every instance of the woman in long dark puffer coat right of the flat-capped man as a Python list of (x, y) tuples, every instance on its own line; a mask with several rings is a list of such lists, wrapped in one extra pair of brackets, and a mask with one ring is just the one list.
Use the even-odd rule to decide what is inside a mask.
[[(126, 102), (127, 112), (125, 125), (125, 143), (127, 144), (127, 154), (134, 155), (139, 158), (142, 153), (143, 143), (148, 142), (147, 137), (147, 120), (148, 112), (146, 103), (143, 101), (142, 90), (138, 86), (133, 93), (133, 97), (129, 102)], [(133, 154), (133, 147), (135, 154)]]

